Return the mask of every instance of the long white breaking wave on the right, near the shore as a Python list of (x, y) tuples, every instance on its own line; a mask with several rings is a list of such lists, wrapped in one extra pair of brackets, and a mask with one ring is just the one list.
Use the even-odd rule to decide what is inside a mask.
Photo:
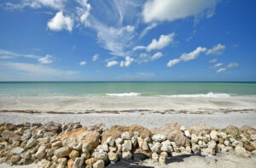
[(208, 92), (207, 94), (178, 94), (178, 95), (165, 95), (165, 97), (173, 98), (230, 98), (231, 94)]

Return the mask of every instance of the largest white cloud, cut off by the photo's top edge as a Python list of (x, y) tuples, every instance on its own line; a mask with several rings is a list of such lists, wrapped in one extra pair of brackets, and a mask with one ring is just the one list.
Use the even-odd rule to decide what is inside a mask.
[(144, 22), (173, 21), (206, 14), (211, 17), (218, 0), (150, 0), (143, 6)]

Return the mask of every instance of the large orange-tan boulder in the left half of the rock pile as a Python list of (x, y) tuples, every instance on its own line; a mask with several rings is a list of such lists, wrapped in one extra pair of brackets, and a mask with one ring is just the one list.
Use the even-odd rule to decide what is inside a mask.
[(63, 138), (75, 138), (77, 143), (90, 144), (91, 149), (94, 149), (99, 144), (99, 132), (90, 132), (84, 130), (84, 128), (78, 128), (73, 131), (63, 134), (60, 139)]

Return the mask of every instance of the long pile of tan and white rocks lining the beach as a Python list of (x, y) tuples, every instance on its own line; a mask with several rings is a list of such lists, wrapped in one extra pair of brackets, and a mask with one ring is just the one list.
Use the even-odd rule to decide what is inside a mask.
[(41, 162), (44, 168), (103, 168), (120, 157), (146, 154), (165, 164), (166, 157), (182, 154), (214, 155), (235, 150), (256, 154), (256, 129), (198, 124), (185, 128), (177, 123), (148, 130), (143, 126), (81, 126), (79, 123), (22, 123), (0, 125), (0, 163), (27, 165)]

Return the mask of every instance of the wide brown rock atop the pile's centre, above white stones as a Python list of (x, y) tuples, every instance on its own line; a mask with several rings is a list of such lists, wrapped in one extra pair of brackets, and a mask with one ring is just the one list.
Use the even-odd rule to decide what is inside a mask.
[(143, 138), (151, 136), (148, 128), (143, 126), (112, 126), (102, 133), (102, 143), (107, 141), (108, 137), (112, 137), (113, 139), (120, 137), (123, 132), (129, 132), (131, 137), (133, 137), (133, 132), (139, 132), (139, 135)]

